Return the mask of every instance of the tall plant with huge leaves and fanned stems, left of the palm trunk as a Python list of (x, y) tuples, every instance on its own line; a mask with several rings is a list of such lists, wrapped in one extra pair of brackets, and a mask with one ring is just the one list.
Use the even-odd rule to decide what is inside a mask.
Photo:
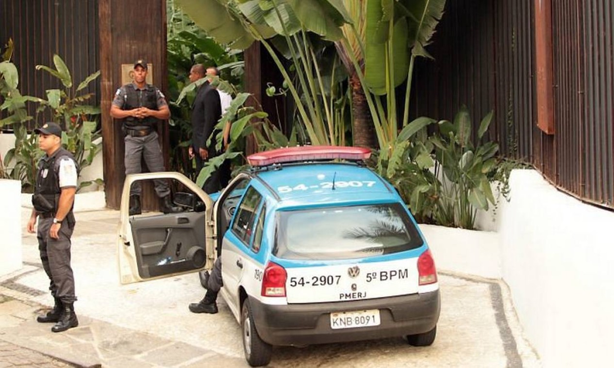
[[(342, 36), (339, 27), (349, 21), (342, 4), (296, 0), (178, 0), (178, 3), (218, 42), (243, 50), (259, 40), (284, 77), (309, 143), (339, 143), (341, 137), (336, 134), (343, 129), (336, 129), (335, 119), (342, 118), (333, 109), (338, 97), (344, 96), (335, 83), (344, 78), (338, 72), (338, 59), (325, 62), (330, 59), (325, 58), (330, 53), (326, 52), (327, 43), (322, 39), (335, 40)], [(201, 9), (208, 11), (201, 12)], [(308, 18), (308, 22), (301, 23), (299, 18)], [(277, 37), (271, 39), (274, 36)], [(329, 50), (331, 46), (328, 43)], [(280, 54), (292, 61), (289, 68)], [(322, 74), (326, 69), (330, 70), (330, 76)]]

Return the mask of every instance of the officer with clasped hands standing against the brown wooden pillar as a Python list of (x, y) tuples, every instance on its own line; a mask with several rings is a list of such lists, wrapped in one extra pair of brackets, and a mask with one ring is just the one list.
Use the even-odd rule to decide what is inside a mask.
[[(158, 88), (147, 84), (147, 62), (134, 62), (134, 81), (125, 84), (115, 92), (111, 105), (111, 116), (120, 119), (125, 133), (124, 165), (126, 175), (141, 173), (141, 157), (152, 173), (164, 171), (162, 151), (158, 143), (156, 126), (171, 116), (165, 97)], [(180, 208), (171, 203), (168, 182), (154, 180), (155, 191), (160, 197), (164, 213), (179, 212)], [(141, 183), (130, 188), (130, 215), (141, 213)]]

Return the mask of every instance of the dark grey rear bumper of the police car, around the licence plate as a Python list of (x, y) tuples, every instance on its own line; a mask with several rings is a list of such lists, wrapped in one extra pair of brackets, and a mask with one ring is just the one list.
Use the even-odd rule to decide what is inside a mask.
[[(437, 325), (439, 290), (351, 302), (271, 306), (250, 299), (258, 335), (271, 345), (309, 345), (420, 334)], [(379, 309), (379, 326), (332, 329), (330, 313)]]

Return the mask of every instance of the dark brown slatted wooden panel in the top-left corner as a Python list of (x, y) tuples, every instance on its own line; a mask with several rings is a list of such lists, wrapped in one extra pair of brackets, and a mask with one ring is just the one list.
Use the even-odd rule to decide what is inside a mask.
[[(98, 0), (1, 0), (0, 43), (9, 38), (15, 44), (12, 62), (19, 71), (21, 94), (46, 98), (45, 90), (64, 88), (60, 81), (36, 65), (53, 67), (58, 54), (71, 71), (74, 88), (98, 70)], [(100, 88), (90, 83), (84, 92), (94, 96), (87, 103), (98, 105)], [(36, 114), (36, 105), (28, 104), (29, 115), (36, 120), (29, 128), (52, 119), (52, 112)]]

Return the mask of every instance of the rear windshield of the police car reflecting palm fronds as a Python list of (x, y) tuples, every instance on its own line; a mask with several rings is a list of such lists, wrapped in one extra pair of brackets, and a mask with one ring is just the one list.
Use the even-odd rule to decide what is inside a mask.
[(422, 239), (400, 203), (279, 211), (273, 254), (342, 260), (403, 252)]

